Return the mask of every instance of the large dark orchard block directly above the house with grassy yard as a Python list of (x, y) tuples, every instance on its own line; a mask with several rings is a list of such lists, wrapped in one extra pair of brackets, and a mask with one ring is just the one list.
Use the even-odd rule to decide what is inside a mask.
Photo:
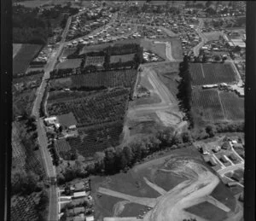
[(129, 97), (128, 89), (116, 89), (96, 96), (49, 104), (49, 115), (73, 112), (77, 126), (90, 126), (123, 119)]

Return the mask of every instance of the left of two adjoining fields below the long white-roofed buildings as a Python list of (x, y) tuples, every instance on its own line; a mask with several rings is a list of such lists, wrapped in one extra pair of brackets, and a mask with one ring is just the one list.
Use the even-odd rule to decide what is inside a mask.
[(192, 92), (192, 109), (205, 120), (224, 119), (224, 111), (219, 100), (218, 90), (198, 90)]

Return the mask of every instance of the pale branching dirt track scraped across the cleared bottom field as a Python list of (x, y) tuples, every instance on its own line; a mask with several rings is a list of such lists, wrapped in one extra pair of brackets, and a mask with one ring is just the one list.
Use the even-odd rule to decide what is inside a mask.
[[(158, 165), (159, 162), (163, 163), (164, 160), (166, 160), (166, 157), (159, 159), (156, 164)], [(177, 173), (182, 172), (183, 176), (186, 176), (188, 179), (177, 184), (176, 187), (169, 191), (161, 189), (155, 183), (151, 183), (144, 177), (144, 181), (148, 186), (161, 194), (157, 198), (125, 195), (105, 188), (99, 188), (98, 192), (104, 195), (118, 197), (125, 201), (153, 207), (153, 209), (148, 211), (143, 219), (141, 219), (144, 221), (183, 220), (184, 218), (190, 218), (191, 213), (184, 211), (184, 209), (189, 206), (195, 206), (204, 201), (211, 203), (213, 206), (218, 206), (218, 208), (222, 209), (224, 212), (230, 212), (229, 207), (225, 206), (220, 201), (217, 201), (212, 196), (209, 196), (211, 195), (212, 190), (218, 185), (219, 179), (212, 172), (209, 172), (205, 166), (195, 163), (194, 161), (182, 160), (182, 162), (177, 165), (177, 168), (173, 170)], [(172, 172), (172, 170), (167, 169), (166, 171)], [(194, 218), (195, 217), (198, 220), (204, 220), (203, 218), (194, 216)], [(136, 218), (104, 218), (104, 221), (110, 220), (136, 220)]]

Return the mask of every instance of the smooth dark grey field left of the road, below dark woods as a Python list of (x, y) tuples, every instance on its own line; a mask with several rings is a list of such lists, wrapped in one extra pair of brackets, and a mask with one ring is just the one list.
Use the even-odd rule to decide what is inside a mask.
[(26, 73), (29, 63), (38, 54), (41, 48), (42, 45), (39, 44), (22, 44), (21, 49), (13, 59), (13, 74)]

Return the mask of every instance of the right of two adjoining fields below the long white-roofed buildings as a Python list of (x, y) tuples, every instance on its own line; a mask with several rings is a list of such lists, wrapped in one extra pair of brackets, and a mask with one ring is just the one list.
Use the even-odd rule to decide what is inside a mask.
[[(244, 99), (234, 92), (221, 92), (219, 94), (227, 119), (244, 119)], [(235, 108), (236, 107), (236, 108)]]

